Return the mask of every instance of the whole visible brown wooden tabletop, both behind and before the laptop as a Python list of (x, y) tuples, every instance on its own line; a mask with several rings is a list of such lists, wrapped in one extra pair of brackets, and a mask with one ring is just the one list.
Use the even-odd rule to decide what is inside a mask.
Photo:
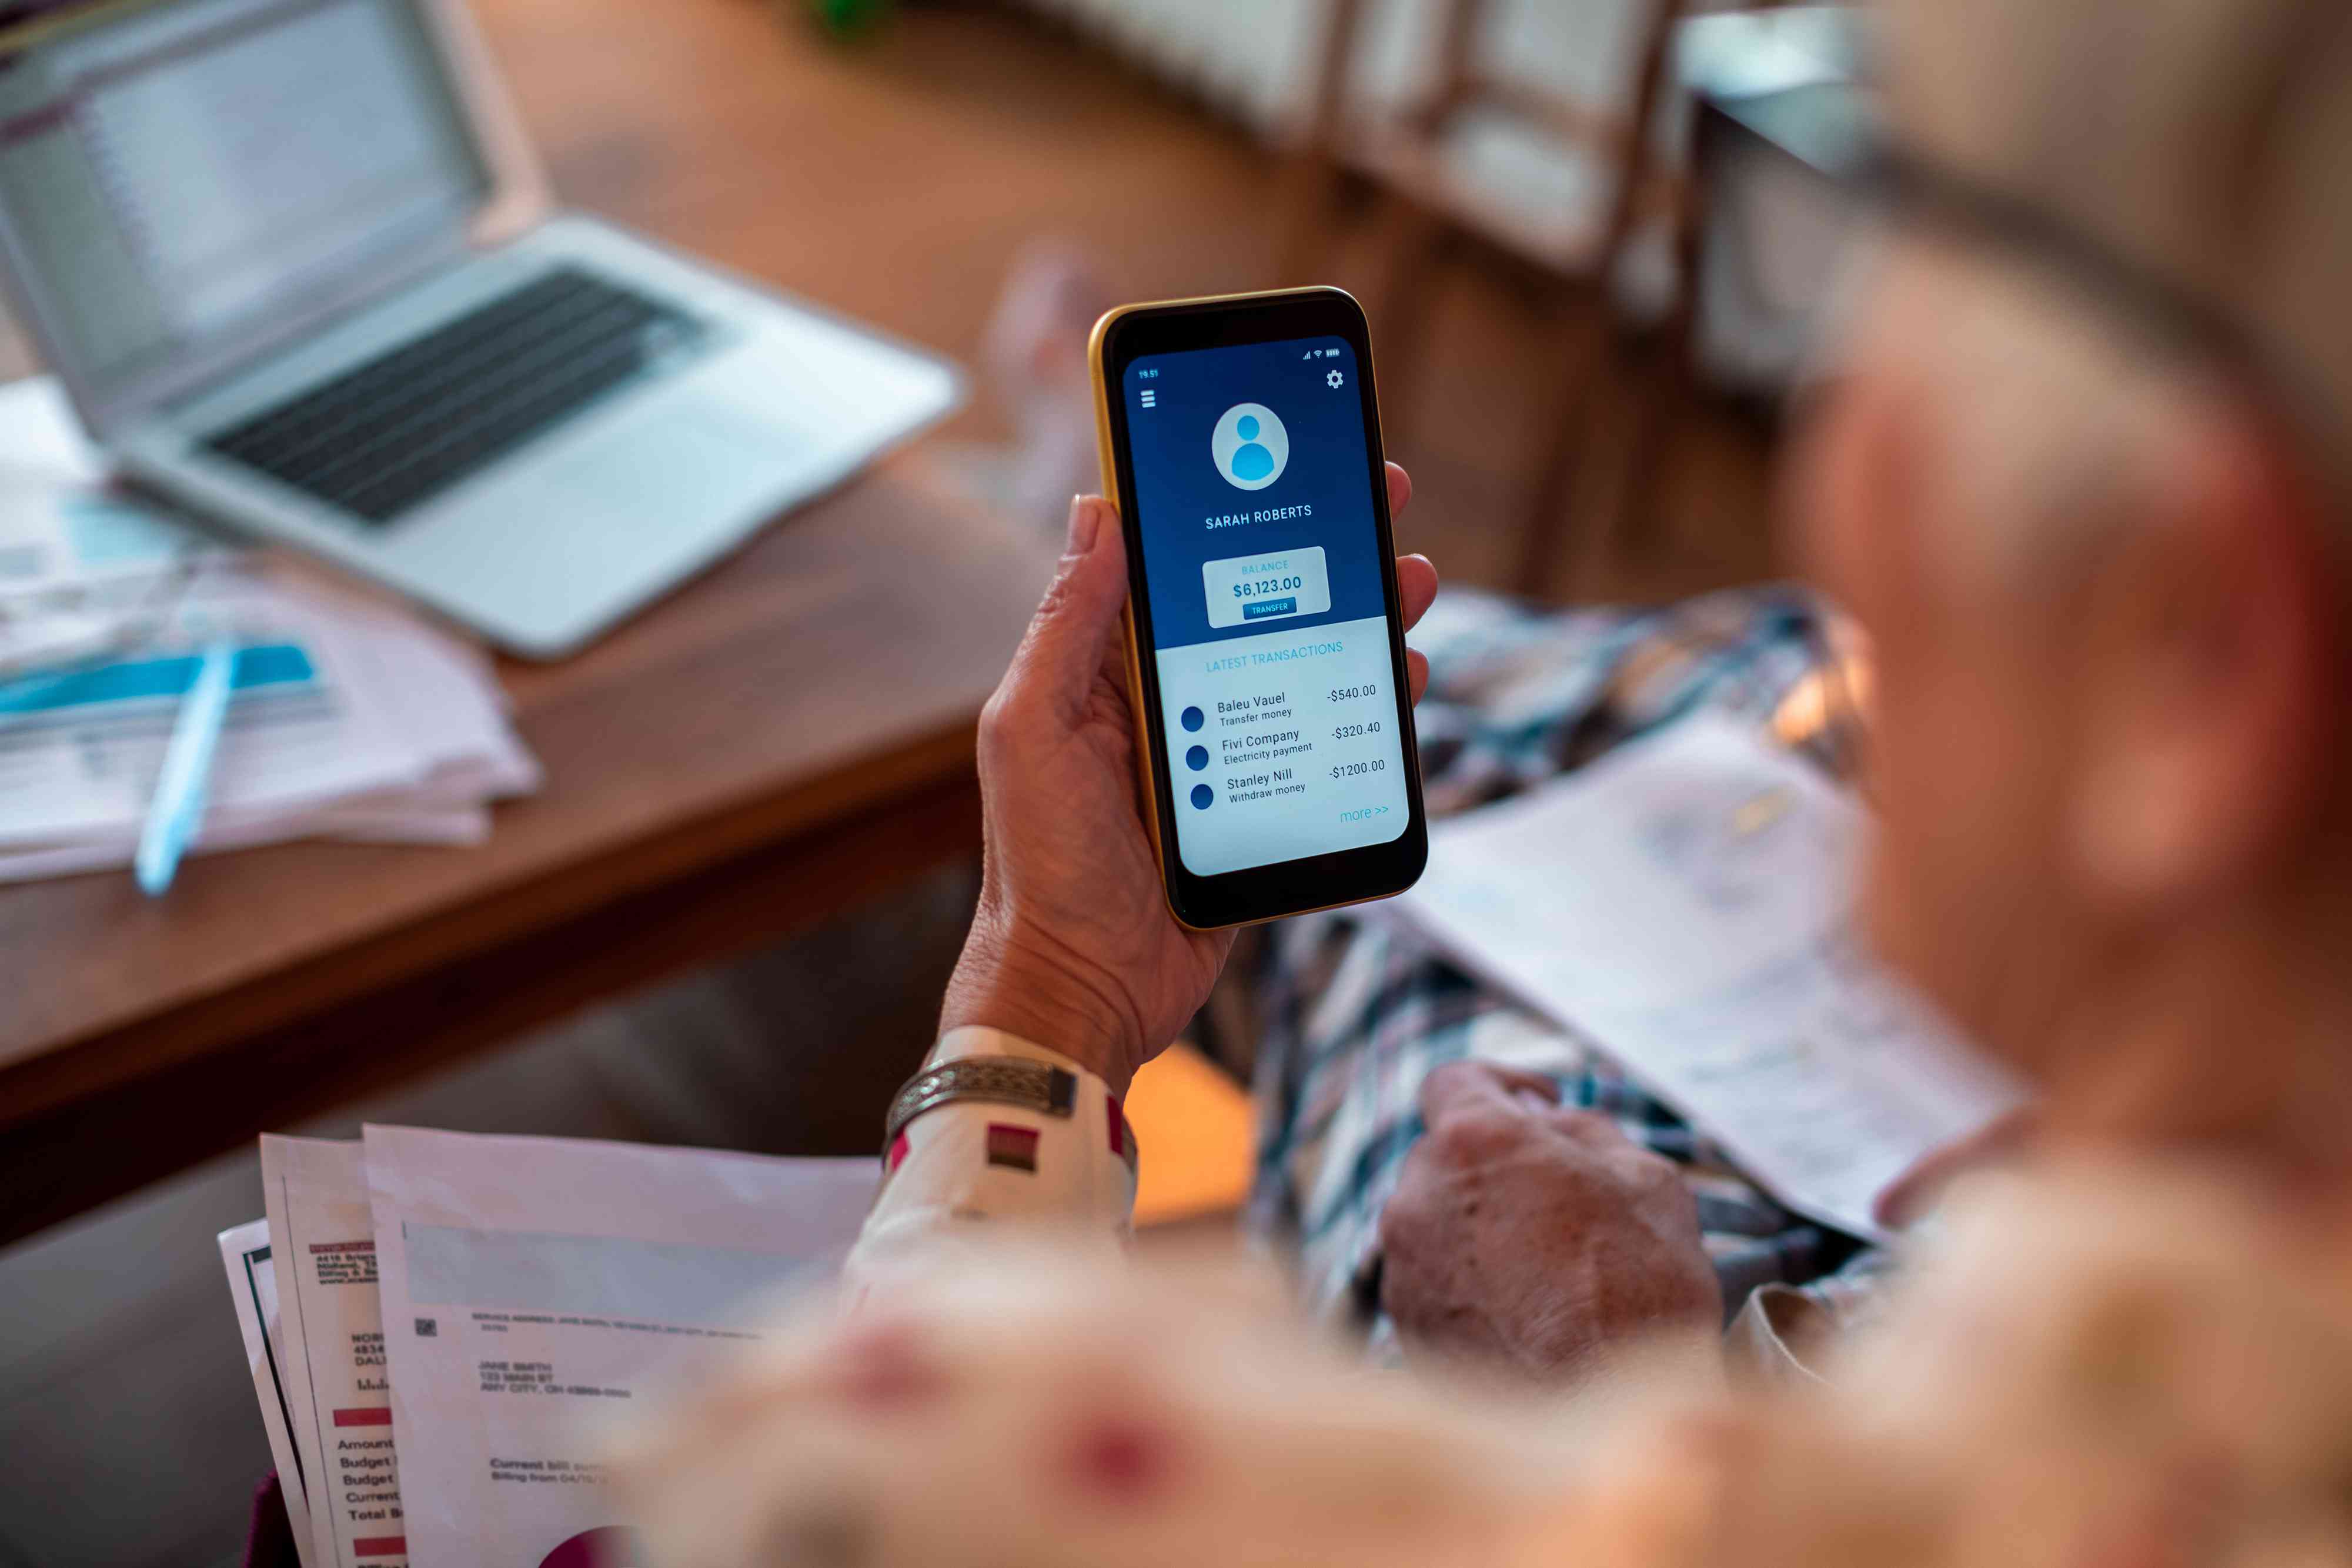
[[(1018, 221), (1007, 169), (1056, 188), (913, 31), (861, 56), (746, 0), (477, 9), (562, 200), (950, 353), (1014, 237), (941, 226)], [(482, 849), (0, 889), (0, 1244), (967, 853), (971, 726), (1051, 555), (917, 449), (579, 658), (501, 665), (548, 783)]]

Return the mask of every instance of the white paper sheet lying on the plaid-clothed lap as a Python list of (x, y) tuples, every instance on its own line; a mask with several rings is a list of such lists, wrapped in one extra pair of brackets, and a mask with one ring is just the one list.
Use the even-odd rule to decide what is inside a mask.
[(1809, 764), (1705, 715), (1439, 823), (1395, 910), (1783, 1204), (1879, 1237), (1879, 1190), (2016, 1088), (1860, 954), (1863, 827)]

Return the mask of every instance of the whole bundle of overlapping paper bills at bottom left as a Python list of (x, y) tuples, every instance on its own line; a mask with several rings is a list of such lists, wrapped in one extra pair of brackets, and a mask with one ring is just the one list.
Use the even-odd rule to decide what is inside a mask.
[(616, 1420), (821, 1281), (873, 1159), (369, 1126), (263, 1138), (221, 1260), (303, 1568), (621, 1561)]

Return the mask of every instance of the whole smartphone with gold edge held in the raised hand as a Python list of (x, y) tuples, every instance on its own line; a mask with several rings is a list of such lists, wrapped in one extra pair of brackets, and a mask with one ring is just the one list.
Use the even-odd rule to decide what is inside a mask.
[(1091, 362), (1169, 910), (1209, 931), (1402, 893), (1430, 837), (1364, 310), (1124, 306)]

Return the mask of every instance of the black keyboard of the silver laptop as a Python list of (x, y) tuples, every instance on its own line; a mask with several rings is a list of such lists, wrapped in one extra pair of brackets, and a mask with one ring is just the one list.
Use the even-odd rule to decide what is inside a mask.
[(555, 268), (205, 447), (381, 524), (696, 336), (670, 306)]

